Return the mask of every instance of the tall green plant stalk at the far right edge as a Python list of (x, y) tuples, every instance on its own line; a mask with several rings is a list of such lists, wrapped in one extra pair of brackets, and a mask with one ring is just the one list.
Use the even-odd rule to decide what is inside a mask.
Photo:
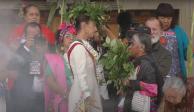
[(191, 24), (191, 37), (189, 39), (189, 46), (188, 46), (188, 52), (187, 52), (187, 59), (188, 59), (188, 75), (192, 75), (192, 69), (193, 69), (193, 30), (194, 30), (194, 11), (192, 16), (192, 24)]

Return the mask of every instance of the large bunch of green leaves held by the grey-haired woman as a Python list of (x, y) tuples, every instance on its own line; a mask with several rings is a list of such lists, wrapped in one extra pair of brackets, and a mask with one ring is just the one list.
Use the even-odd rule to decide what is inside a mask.
[(128, 47), (118, 39), (110, 40), (109, 38), (106, 38), (103, 46), (108, 51), (102, 56), (100, 63), (108, 73), (108, 82), (114, 82), (117, 89), (122, 89), (124, 88), (121, 83), (122, 80), (134, 72), (134, 66), (129, 62), (131, 54), (128, 51)]

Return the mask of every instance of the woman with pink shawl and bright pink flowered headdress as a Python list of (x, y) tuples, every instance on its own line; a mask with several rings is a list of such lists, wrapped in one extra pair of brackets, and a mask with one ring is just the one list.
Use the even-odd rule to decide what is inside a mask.
[(74, 26), (64, 23), (56, 36), (57, 52), (45, 55), (45, 112), (68, 112), (72, 72), (66, 51), (75, 34)]

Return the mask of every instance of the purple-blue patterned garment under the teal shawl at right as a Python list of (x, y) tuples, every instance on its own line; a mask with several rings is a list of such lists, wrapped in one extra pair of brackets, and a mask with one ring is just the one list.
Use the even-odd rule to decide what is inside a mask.
[(172, 65), (168, 76), (180, 75), (180, 63), (178, 55), (178, 42), (176, 35), (173, 31), (164, 32), (164, 37), (167, 40), (167, 44), (163, 45), (168, 51), (170, 51), (172, 56)]

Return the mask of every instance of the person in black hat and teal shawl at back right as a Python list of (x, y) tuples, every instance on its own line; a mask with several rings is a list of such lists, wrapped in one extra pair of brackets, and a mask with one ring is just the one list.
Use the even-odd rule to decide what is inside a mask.
[(162, 29), (165, 31), (164, 37), (169, 40), (165, 47), (170, 50), (173, 59), (175, 58), (172, 62), (175, 63), (173, 64), (175, 67), (171, 69), (170, 73), (186, 80), (185, 60), (189, 42), (188, 36), (180, 26), (176, 25), (175, 10), (171, 4), (160, 3), (156, 9), (156, 17), (160, 20)]

